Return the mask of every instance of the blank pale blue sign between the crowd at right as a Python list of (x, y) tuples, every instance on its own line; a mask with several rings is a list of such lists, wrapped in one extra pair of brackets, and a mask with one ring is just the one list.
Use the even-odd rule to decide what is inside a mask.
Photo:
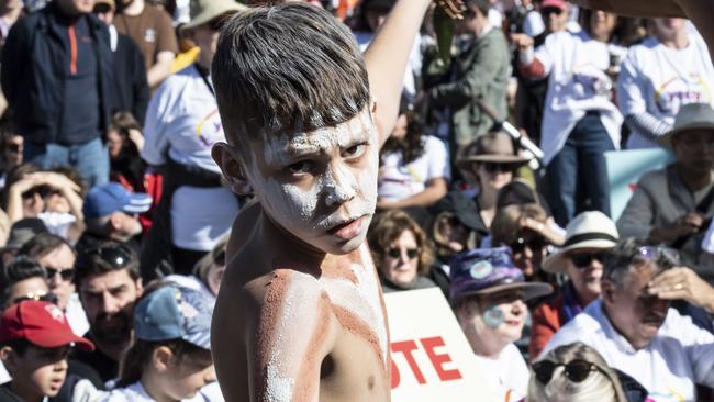
[(610, 217), (617, 222), (644, 174), (661, 169), (673, 160), (669, 150), (659, 147), (606, 152)]

